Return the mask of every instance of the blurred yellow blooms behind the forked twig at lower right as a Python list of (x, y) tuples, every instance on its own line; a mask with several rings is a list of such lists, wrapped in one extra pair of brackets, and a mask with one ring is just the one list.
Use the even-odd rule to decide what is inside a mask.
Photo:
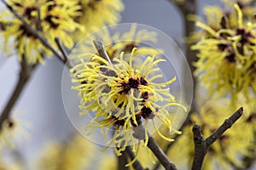
[[(236, 111), (237, 108), (230, 110), (230, 107), (226, 106), (228, 103), (228, 99), (218, 103), (208, 101), (200, 105), (200, 115), (195, 113), (190, 116), (189, 125), (183, 128), (183, 134), (177, 138), (168, 152), (168, 156), (177, 163), (177, 167), (188, 168), (192, 165), (195, 150), (191, 129), (195, 123), (201, 125), (202, 133), (207, 138), (231, 113)], [(233, 169), (234, 166), (246, 169), (243, 158), (253, 156), (252, 148), (256, 141), (254, 135), (256, 110), (255, 105), (243, 106), (244, 113), (241, 120), (238, 120), (230, 131), (224, 133), (207, 151), (204, 169), (215, 169), (215, 166), (219, 169)]]

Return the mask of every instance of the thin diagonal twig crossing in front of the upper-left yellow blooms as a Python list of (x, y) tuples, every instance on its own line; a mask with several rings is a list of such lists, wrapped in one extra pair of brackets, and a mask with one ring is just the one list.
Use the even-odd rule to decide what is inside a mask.
[(65, 64), (65, 59), (63, 59), (63, 57), (61, 56), (61, 54), (59, 54), (59, 53), (55, 50), (55, 48), (53, 48), (53, 47), (49, 44), (49, 42), (48, 42), (44, 37), (40, 36), (40, 35), (38, 34), (38, 32), (37, 32), (35, 29), (33, 29), (32, 26), (30, 26), (30, 25), (26, 22), (26, 20), (24, 20), (24, 18), (23, 18), (20, 14), (18, 14), (18, 13), (15, 11), (15, 9), (12, 8), (6, 1), (4, 1), (4, 0), (1, 0), (1, 1), (2, 1), (2, 3), (3, 3), (7, 8), (9, 8), (9, 10), (10, 10), (13, 14), (15, 14), (15, 16), (22, 22), (22, 24), (25, 26), (25, 28), (26, 28), (27, 31), (29, 31), (34, 37), (37, 37), (38, 40), (40, 40), (40, 42), (42, 42), (43, 45), (44, 45), (46, 48), (49, 48), (49, 50), (52, 51), (53, 54), (55, 54), (55, 56), (56, 56), (58, 59), (60, 59), (62, 63)]

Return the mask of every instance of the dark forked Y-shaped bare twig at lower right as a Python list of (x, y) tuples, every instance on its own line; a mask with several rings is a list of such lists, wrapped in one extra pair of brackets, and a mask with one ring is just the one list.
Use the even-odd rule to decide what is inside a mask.
[(201, 169), (209, 147), (241, 117), (242, 112), (243, 108), (241, 107), (232, 116), (226, 119), (224, 123), (220, 125), (220, 127), (218, 127), (218, 129), (214, 131), (207, 139), (203, 138), (201, 127), (199, 125), (195, 125), (193, 127), (195, 144), (195, 155), (192, 165), (193, 170)]

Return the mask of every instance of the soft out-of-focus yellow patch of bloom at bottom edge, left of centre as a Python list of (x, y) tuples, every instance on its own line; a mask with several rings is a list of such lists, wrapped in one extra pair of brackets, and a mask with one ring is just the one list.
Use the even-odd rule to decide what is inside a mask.
[(90, 167), (95, 145), (76, 134), (64, 143), (52, 142), (46, 145), (37, 161), (37, 169), (82, 170)]

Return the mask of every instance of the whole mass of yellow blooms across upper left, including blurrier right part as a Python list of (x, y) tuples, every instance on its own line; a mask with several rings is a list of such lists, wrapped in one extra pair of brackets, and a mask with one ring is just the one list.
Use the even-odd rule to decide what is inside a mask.
[[(113, 24), (119, 21), (118, 13), (123, 9), (120, 0), (10, 0), (9, 5), (51, 46), (56, 47), (57, 36), (66, 48), (73, 48), (75, 32), (79, 36), (84, 32), (85, 36), (85, 30), (88, 34), (103, 24)], [(114, 19), (110, 20), (112, 18)], [(27, 26), (7, 9), (0, 14), (0, 24), (5, 41), (4, 50), (9, 55), (13, 55), (16, 50), (19, 59), (27, 59), (30, 64), (44, 62), (44, 56), (50, 56), (49, 49), (45, 48), (38, 37), (35, 37)]]

